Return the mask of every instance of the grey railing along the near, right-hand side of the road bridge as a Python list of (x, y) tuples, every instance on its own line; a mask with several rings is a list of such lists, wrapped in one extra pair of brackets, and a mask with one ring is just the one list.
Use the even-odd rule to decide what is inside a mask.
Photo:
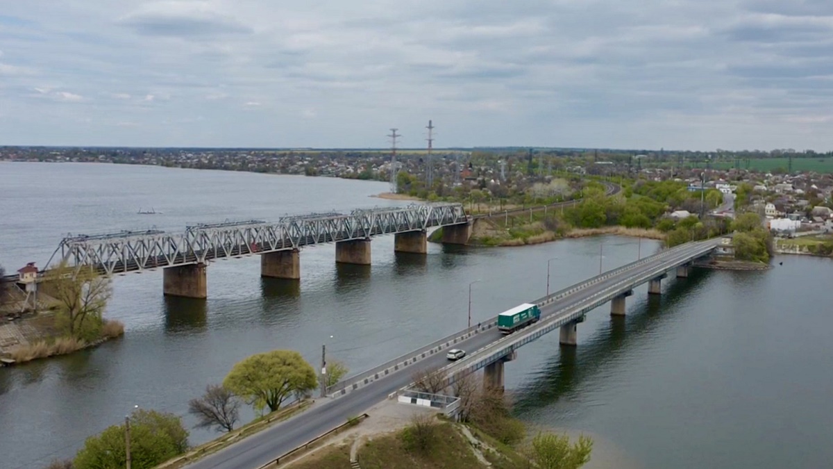
[[(676, 255), (674, 255), (671, 260), (673, 260), (673, 264), (678, 262), (686, 263), (690, 260), (696, 259), (697, 257), (706, 255), (710, 250), (715, 249), (717, 246), (718, 244), (714, 242), (711, 242), (708, 245), (686, 246), (685, 250), (676, 251)], [(585, 315), (588, 311), (593, 310), (600, 305), (604, 305), (616, 296), (621, 295), (622, 292), (633, 290), (636, 286), (641, 285), (648, 280), (655, 279), (673, 268), (674, 267), (668, 267), (668, 264), (664, 263), (663, 265), (658, 266), (655, 269), (647, 270), (645, 273), (634, 278), (616, 282), (615, 284), (607, 287), (605, 290), (596, 292), (585, 300), (581, 300), (577, 304), (565, 305), (563, 308), (556, 310), (551, 313), (551, 315), (548, 315), (546, 319), (541, 320), (538, 325), (532, 326), (530, 330), (527, 330), (526, 332), (521, 330), (515, 334), (506, 335), (505, 337), (502, 337), (501, 339), (470, 353), (465, 358), (442, 367), (437, 372), (445, 373), (446, 381), (448, 384), (451, 384), (454, 382), (456, 374), (461, 371), (477, 371), (483, 366), (498, 360), (502, 356), (510, 354), (521, 345), (526, 345), (532, 340), (536, 340), (541, 337), (541, 335), (561, 327), (561, 325), (571, 323), (582, 315)], [(570, 313), (564, 314), (567, 311), (570, 311)], [(486, 355), (483, 356), (483, 354)]]

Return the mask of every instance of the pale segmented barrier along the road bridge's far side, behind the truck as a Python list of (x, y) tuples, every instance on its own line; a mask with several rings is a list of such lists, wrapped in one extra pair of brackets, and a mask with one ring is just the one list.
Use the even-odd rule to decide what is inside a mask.
[[(699, 243), (699, 241), (698, 241)], [(681, 252), (682, 250), (691, 249), (692, 245), (684, 245), (681, 246), (679, 249), (672, 248), (671, 250), (663, 250), (655, 255), (650, 255), (648, 257), (642, 258), (641, 260), (636, 260), (631, 262), (630, 264), (623, 265), (618, 267), (614, 270), (609, 270), (601, 275), (596, 275), (589, 280), (585, 280), (577, 285), (572, 285), (567, 287), (566, 289), (556, 291), (549, 296), (544, 296), (538, 300), (535, 300), (535, 304), (538, 306), (545, 306), (550, 305), (556, 300), (560, 300), (561, 298), (576, 293), (576, 291), (584, 290), (585, 288), (596, 285), (597, 283), (607, 280), (614, 275), (620, 275), (622, 272), (627, 270), (635, 269), (640, 265), (645, 265), (648, 262), (653, 262), (655, 260), (661, 259), (666, 256), (675, 255), (676, 253)], [(412, 350), (411, 352), (404, 354), (402, 356), (397, 356), (393, 360), (387, 361), (380, 366), (376, 366), (369, 371), (363, 371), (361, 373), (357, 373), (356, 375), (350, 376), (333, 386), (327, 388), (327, 396), (331, 396), (332, 398), (344, 396), (349, 392), (356, 391), (363, 386), (367, 386), (368, 384), (372, 383), (373, 381), (377, 381), (380, 378), (388, 376), (396, 371), (401, 370), (407, 366), (411, 366), (422, 359), (425, 359), (429, 356), (433, 356), (436, 353), (440, 352), (441, 350), (445, 350), (452, 345), (456, 345), (463, 340), (469, 339), (472, 335), (477, 333), (490, 330), (497, 325), (497, 315), (481, 322), (481, 325), (478, 327), (476, 325), (471, 326), (465, 330), (461, 330), (455, 332), (454, 334), (448, 335), (443, 337), (440, 340), (435, 340), (429, 345), (425, 345), (420, 347), (419, 349)]]

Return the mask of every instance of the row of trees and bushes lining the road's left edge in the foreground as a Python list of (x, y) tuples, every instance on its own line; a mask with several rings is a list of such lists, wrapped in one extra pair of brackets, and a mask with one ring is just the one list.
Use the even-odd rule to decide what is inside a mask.
[[(327, 366), (327, 386), (341, 380), (347, 366), (331, 361)], [(318, 385), (315, 369), (294, 350), (271, 350), (249, 356), (232, 366), (220, 385), (209, 385), (202, 396), (188, 402), (188, 412), (197, 418), (197, 427), (225, 432), (217, 441), (197, 448), (188, 443), (188, 431), (182, 419), (168, 412), (137, 410), (131, 415), (130, 452), (132, 468), (150, 469), (172, 458), (192, 461), (208, 452), (218, 451), (231, 441), (237, 441), (269, 423), (292, 415), (282, 405), (287, 401), (299, 404), (303, 410), (310, 392)], [(256, 411), (254, 421), (235, 431), (241, 403)], [(266, 409), (269, 413), (265, 414)], [(265, 422), (261, 425), (262, 422)], [(52, 461), (47, 469), (118, 469), (127, 463), (125, 425), (108, 427), (90, 436), (72, 460)], [(192, 451), (193, 450), (193, 451)], [(192, 458), (187, 454), (192, 451)], [(178, 467), (170, 463), (167, 467)]]

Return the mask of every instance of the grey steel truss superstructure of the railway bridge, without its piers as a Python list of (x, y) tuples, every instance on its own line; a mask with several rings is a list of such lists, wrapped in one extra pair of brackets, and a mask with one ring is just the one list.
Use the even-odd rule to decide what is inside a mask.
[(471, 221), (462, 204), (411, 204), (406, 207), (355, 209), (263, 220), (194, 224), (183, 233), (158, 229), (106, 235), (69, 235), (47, 266), (63, 262), (92, 266), (102, 275), (207, 263), (209, 260), (297, 250), (339, 241), (367, 240)]

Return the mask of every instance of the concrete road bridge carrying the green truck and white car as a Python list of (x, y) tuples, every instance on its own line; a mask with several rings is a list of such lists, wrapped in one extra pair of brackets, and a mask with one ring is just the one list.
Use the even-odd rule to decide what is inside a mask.
[[(575, 346), (576, 326), (588, 311), (611, 302), (611, 314), (624, 314), (621, 303), (614, 304), (614, 300), (625, 298), (631, 295), (636, 286), (651, 282), (654, 282), (654, 288), (649, 289), (650, 294), (661, 294), (660, 282), (669, 272), (685, 278), (692, 262), (723, 250), (730, 243), (731, 240), (723, 238), (663, 250), (545, 296), (534, 301), (541, 308), (541, 320), (510, 335), (502, 335), (497, 330), (495, 316), (480, 325), (424, 345), (372, 370), (343, 380), (327, 389), (330, 399), (323, 403), (319, 401), (302, 414), (249, 436), (188, 467), (232, 469), (262, 466), (342, 424), (347, 418), (361, 414), (392, 393), (406, 389), (415, 371), (439, 370), (446, 383), (451, 384), (460, 376), (483, 369), (484, 382), (488, 386), (503, 386), (504, 363), (511, 361), (521, 346), (553, 330), (560, 331), (560, 343), (563, 346)], [(442, 350), (451, 347), (468, 350), (468, 356), (448, 365)]]

